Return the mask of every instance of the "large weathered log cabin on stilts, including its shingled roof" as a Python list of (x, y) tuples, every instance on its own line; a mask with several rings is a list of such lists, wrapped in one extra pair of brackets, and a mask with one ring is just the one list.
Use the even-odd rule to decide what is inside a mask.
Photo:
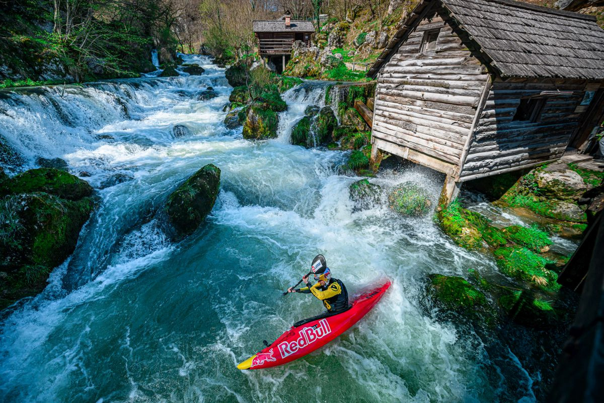
[(368, 71), (381, 149), (461, 182), (579, 148), (604, 113), (604, 31), (510, 0), (423, 0)]

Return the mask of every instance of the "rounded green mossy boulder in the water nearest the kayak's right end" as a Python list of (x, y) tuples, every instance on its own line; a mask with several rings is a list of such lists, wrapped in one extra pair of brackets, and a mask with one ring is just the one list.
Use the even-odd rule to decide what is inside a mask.
[(469, 317), (490, 316), (491, 308), (485, 295), (462, 277), (429, 274), (426, 295), (443, 311)]

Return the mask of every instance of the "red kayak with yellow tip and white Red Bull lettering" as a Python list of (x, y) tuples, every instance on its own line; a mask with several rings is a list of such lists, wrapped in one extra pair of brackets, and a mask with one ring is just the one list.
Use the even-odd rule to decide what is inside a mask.
[(276, 367), (294, 361), (344, 333), (353, 324), (371, 311), (386, 290), (390, 287), (390, 281), (379, 287), (359, 295), (352, 301), (349, 309), (340, 314), (317, 318), (308, 322), (292, 326), (270, 346), (259, 353), (252, 355), (237, 366), (238, 369), (260, 369)]

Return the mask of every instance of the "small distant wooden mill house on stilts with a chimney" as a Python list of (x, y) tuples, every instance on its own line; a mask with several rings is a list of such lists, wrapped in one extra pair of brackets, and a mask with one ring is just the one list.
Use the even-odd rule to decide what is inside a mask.
[(272, 21), (254, 21), (252, 23), (258, 41), (260, 57), (277, 66), (277, 71), (285, 69), (296, 40), (310, 46), (310, 36), (315, 32), (311, 21), (298, 21), (286, 14)]

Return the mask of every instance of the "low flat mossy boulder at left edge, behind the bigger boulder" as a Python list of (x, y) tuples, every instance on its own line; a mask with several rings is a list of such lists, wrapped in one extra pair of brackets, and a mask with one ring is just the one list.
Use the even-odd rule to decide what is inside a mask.
[(37, 168), (14, 176), (0, 184), (0, 196), (45, 192), (68, 200), (91, 196), (93, 189), (83, 179), (59, 169)]

